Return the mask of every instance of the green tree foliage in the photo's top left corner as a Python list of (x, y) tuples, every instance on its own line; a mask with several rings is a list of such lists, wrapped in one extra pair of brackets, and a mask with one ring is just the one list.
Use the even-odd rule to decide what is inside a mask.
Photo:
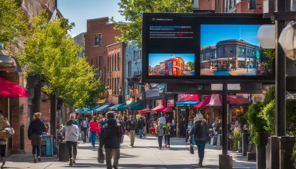
[(7, 49), (28, 33), (28, 16), (23, 14), (20, 1), (0, 0), (0, 42)]

